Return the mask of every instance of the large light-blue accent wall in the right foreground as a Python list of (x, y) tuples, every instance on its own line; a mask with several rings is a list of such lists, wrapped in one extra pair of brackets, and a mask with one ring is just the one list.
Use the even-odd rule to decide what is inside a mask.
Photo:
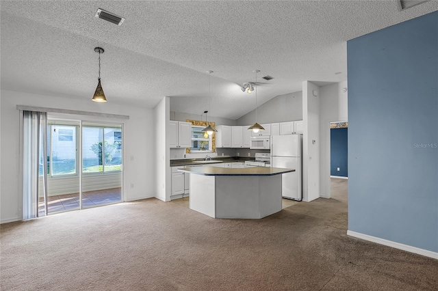
[(438, 12), (347, 57), (348, 230), (438, 252)]

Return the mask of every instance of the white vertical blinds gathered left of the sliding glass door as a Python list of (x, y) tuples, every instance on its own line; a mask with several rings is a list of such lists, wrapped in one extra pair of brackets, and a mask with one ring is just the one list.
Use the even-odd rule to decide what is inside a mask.
[(47, 113), (23, 111), (23, 219), (47, 215)]

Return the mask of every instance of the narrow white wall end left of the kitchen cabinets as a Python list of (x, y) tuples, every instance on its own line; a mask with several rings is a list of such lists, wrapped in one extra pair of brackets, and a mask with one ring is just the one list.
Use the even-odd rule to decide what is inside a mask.
[(169, 97), (164, 97), (153, 109), (155, 121), (155, 152), (153, 154), (156, 173), (155, 197), (162, 201), (170, 201), (170, 148), (168, 123), (170, 115)]

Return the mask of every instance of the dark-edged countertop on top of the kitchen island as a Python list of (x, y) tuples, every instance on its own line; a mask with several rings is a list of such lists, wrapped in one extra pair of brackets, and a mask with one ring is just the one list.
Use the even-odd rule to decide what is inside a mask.
[(247, 167), (247, 168), (222, 168), (222, 167), (185, 167), (178, 169), (189, 174), (204, 176), (274, 176), (290, 173), (295, 169), (272, 168), (272, 167)]

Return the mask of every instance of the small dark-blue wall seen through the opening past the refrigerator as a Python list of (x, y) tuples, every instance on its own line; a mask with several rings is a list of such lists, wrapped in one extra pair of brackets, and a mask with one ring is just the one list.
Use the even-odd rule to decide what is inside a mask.
[(348, 128), (330, 130), (330, 175), (348, 177)]

